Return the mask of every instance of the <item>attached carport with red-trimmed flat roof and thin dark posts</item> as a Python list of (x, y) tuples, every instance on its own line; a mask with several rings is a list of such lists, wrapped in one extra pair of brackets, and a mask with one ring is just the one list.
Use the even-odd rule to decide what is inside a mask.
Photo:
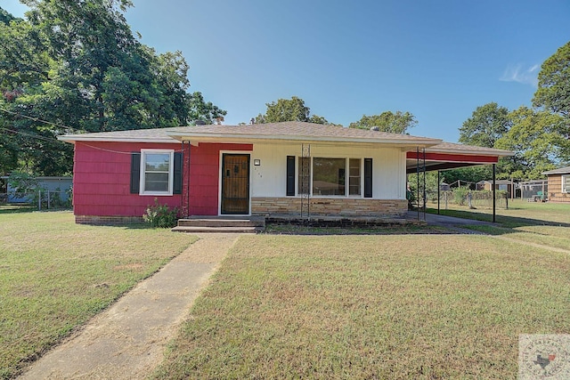
[[(475, 147), (469, 145), (442, 142), (429, 148), (416, 148), (406, 154), (406, 174), (418, 174), (418, 199), (419, 178), (423, 174), (423, 218), (426, 219), (426, 172), (437, 171), (437, 183), (440, 182), (440, 173), (443, 170), (458, 167), (493, 165), (493, 222), (495, 222), (495, 182), (496, 165), (499, 158), (512, 156), (510, 150), (497, 150), (494, 148)], [(437, 186), (437, 214), (439, 214), (440, 189)], [(419, 205), (418, 205), (419, 219)]]

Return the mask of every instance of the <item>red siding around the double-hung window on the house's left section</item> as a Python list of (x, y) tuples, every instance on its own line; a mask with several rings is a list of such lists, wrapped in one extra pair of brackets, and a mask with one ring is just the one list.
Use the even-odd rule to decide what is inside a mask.
[(180, 150), (180, 143), (77, 141), (73, 168), (73, 212), (77, 216), (142, 217), (146, 206), (180, 207), (182, 197), (130, 193), (131, 152), (141, 149)]

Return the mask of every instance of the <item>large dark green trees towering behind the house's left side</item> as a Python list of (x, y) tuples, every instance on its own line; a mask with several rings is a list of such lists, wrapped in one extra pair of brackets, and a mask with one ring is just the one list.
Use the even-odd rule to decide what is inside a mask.
[(130, 0), (22, 2), (27, 20), (0, 12), (0, 148), (9, 163), (0, 170), (13, 169), (15, 151), (20, 169), (69, 174), (73, 149), (56, 140), (62, 133), (187, 125), (226, 114), (188, 92), (182, 53), (157, 54), (134, 38), (124, 16)]

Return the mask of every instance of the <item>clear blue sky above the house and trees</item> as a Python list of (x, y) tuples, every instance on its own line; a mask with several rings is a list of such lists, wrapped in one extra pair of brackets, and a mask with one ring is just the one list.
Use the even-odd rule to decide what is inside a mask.
[(126, 19), (142, 43), (183, 52), (224, 124), (296, 95), (342, 125), (410, 111), (411, 134), (445, 141), (478, 106), (531, 105), (542, 62), (570, 40), (568, 0), (134, 0)]

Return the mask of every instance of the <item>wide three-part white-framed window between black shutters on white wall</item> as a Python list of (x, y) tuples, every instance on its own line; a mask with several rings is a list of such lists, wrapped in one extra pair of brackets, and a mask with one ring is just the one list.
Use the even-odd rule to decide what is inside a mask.
[(297, 194), (361, 197), (361, 158), (298, 158)]

